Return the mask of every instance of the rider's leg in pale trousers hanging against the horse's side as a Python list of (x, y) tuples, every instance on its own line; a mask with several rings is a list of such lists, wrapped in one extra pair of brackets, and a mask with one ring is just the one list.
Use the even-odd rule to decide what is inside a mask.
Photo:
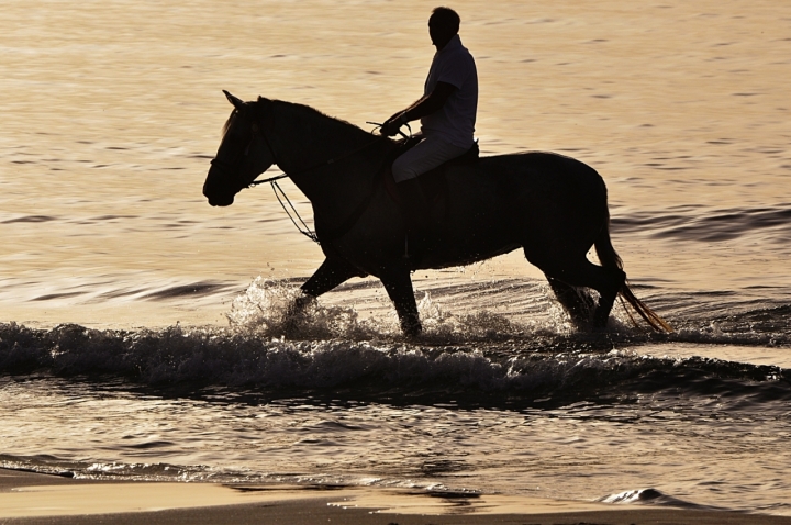
[(466, 152), (466, 148), (430, 136), (393, 163), (393, 179), (401, 197), (410, 257), (419, 258), (425, 252), (432, 236), (431, 208), (417, 176)]

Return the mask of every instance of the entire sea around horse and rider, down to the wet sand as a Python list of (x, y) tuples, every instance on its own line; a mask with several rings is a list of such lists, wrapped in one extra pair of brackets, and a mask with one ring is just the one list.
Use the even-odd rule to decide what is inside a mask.
[(415, 273), (417, 340), (371, 279), (287, 329), (321, 252), (266, 188), (205, 203), (220, 90), (366, 127), (420, 94), (433, 4), (9, 1), (1, 467), (791, 515), (791, 5), (452, 7), (483, 154), (599, 170), (675, 331), (577, 332), (519, 253)]

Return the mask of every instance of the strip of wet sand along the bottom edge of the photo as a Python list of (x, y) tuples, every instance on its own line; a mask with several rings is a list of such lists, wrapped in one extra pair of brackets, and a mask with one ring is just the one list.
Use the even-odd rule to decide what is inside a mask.
[(0, 469), (0, 520), (13, 524), (445, 525), (791, 524), (791, 516), (527, 496), (427, 498), (419, 491), (75, 480)]

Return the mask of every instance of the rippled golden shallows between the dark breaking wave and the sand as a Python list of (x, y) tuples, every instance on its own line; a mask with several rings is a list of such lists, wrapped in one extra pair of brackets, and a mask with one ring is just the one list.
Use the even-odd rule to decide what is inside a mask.
[(453, 399), (171, 398), (45, 378), (3, 380), (0, 396), (4, 448), (14, 451), (0, 465), (9, 467), (586, 500), (650, 485), (677, 501), (788, 513), (786, 403), (728, 406), (671, 388), (628, 402), (509, 411)]

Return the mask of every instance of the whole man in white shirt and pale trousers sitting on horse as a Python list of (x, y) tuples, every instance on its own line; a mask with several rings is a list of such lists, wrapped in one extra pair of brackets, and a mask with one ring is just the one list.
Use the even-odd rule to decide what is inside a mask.
[(432, 222), (417, 176), (464, 155), (475, 145), (478, 72), (472, 55), (461, 45), (459, 23), (459, 15), (453, 9), (434, 9), (428, 19), (428, 34), (437, 52), (423, 97), (392, 115), (381, 127), (382, 135), (393, 136), (402, 125), (421, 119), (423, 141), (392, 166), (410, 252), (419, 257), (430, 242)]

